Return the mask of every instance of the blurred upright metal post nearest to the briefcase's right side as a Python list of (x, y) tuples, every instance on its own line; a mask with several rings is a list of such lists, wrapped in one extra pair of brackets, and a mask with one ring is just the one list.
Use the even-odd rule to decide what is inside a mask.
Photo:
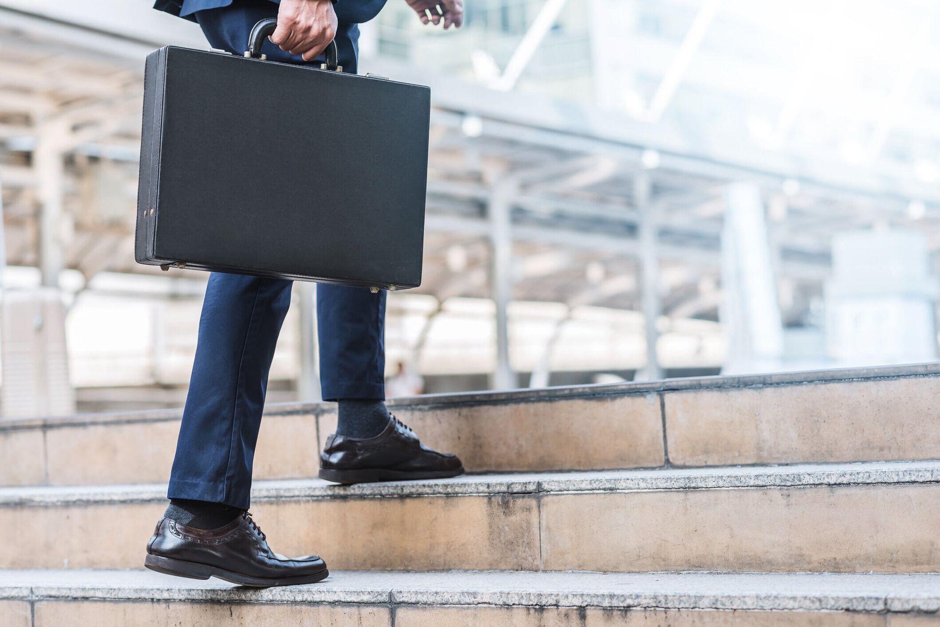
[(489, 204), (490, 219), (490, 285), (493, 289), (496, 323), (496, 368), (491, 387), (509, 390), (516, 387), (515, 374), (509, 364), (509, 300), (512, 298), (512, 234), (510, 204), (517, 183), (507, 178), (493, 186)]

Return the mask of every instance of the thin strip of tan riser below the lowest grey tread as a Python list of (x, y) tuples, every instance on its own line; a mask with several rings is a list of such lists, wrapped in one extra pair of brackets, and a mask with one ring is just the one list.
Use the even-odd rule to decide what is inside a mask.
[[(31, 619), (35, 615), (35, 619)], [(99, 625), (359, 625), (360, 627), (931, 627), (936, 616), (850, 612), (608, 609), (575, 607), (239, 604), (121, 601), (0, 602), (9, 627)]]

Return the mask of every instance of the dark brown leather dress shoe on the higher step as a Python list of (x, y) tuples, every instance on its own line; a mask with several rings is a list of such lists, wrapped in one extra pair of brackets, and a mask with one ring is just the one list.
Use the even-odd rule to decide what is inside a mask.
[(375, 437), (331, 434), (320, 453), (320, 478), (328, 482), (398, 482), (462, 474), (457, 455), (431, 451), (394, 416)]

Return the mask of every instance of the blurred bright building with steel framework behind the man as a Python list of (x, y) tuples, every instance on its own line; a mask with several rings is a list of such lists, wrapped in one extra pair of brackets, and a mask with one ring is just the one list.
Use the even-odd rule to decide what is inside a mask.
[[(180, 405), (205, 276), (133, 263), (142, 69), (206, 45), (99, 4), (0, 0), (4, 287), (62, 303), (40, 321), (60, 334), (8, 309), (0, 390), (35, 344), (68, 364), (43, 384), (66, 405)], [(844, 23), (808, 2), (478, 0), (443, 32), (390, 0), (362, 70), (430, 84), (434, 109), (424, 283), (390, 295), (389, 374), (453, 391), (933, 359), (938, 9), (862, 4)], [(866, 265), (845, 232), (911, 263)], [(294, 298), (272, 400), (316, 394)]]

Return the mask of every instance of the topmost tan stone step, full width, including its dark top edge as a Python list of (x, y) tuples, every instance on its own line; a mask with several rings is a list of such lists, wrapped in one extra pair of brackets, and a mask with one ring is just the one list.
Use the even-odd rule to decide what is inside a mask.
[[(940, 364), (421, 396), (389, 405), (475, 472), (940, 459)], [(273, 405), (256, 479), (313, 477), (333, 404)], [(163, 482), (180, 411), (0, 421), (0, 485)]]

